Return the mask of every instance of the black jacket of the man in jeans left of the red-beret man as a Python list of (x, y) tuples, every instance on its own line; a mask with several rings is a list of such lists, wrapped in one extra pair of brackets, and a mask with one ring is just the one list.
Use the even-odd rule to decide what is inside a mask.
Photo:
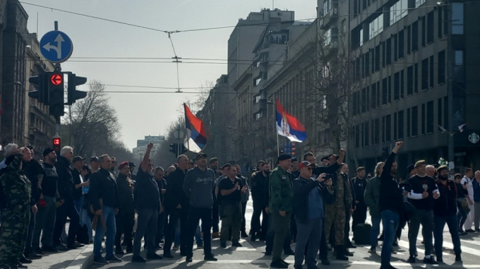
[(101, 209), (100, 199), (106, 207), (119, 208), (117, 181), (106, 169), (100, 168), (92, 174), (88, 196), (95, 211)]

